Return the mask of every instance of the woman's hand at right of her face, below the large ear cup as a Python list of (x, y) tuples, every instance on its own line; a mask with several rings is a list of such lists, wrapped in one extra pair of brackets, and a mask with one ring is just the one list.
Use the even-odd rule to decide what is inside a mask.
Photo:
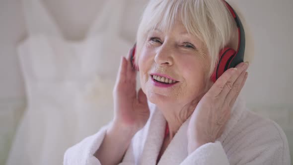
[(218, 139), (230, 118), (230, 110), (247, 79), (247, 63), (225, 71), (198, 102), (188, 125), (188, 153)]

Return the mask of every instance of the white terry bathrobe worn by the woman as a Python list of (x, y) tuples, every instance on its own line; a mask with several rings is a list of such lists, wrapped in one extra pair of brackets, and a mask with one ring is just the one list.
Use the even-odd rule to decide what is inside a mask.
[[(163, 142), (166, 120), (154, 104), (149, 103), (150, 117), (137, 132), (119, 165), (156, 165)], [(290, 165), (289, 145), (278, 124), (248, 111), (239, 96), (231, 118), (215, 143), (207, 143), (193, 153), (187, 152), (186, 120), (158, 165)], [(69, 148), (64, 165), (101, 165), (93, 156), (105, 136), (107, 126)]]

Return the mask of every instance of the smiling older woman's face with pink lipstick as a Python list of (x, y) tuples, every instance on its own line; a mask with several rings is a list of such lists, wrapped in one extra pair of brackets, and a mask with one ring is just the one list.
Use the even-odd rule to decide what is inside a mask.
[(206, 50), (180, 21), (168, 32), (148, 31), (139, 56), (140, 81), (147, 99), (157, 105), (185, 105), (199, 97), (209, 68)]

